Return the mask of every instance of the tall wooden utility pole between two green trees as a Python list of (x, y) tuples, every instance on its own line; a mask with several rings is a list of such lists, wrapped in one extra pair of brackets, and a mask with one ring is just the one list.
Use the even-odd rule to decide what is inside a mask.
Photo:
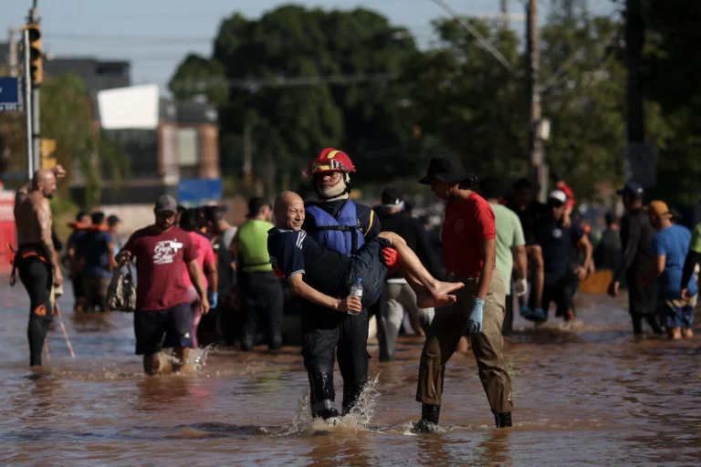
[(540, 52), (538, 36), (538, 0), (528, 0), (526, 17), (526, 37), (528, 49), (528, 93), (530, 95), (530, 119), (528, 120), (530, 155), (530, 179), (539, 186), (539, 200), (545, 201), (548, 190), (547, 174), (544, 167), (543, 140), (540, 139)]

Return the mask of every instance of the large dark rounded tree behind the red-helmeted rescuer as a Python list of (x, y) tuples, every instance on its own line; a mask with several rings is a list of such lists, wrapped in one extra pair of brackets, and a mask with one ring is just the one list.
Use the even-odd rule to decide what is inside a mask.
[[(413, 127), (399, 106), (403, 88), (392, 82), (413, 51), (406, 30), (374, 12), (287, 5), (257, 20), (225, 18), (213, 57), (186, 58), (171, 88), (179, 99), (192, 98), (194, 91), (180, 92), (181, 84), (218, 86), (223, 70), (225, 101), (211, 87), (199, 89), (220, 105), (227, 173), (240, 173), (243, 132), (250, 126), (255, 167), (274, 154), (279, 173), (292, 182), (328, 146), (351, 154), (360, 179), (386, 180), (375, 161), (388, 150), (401, 153)], [(309, 77), (319, 79), (300, 80)]]

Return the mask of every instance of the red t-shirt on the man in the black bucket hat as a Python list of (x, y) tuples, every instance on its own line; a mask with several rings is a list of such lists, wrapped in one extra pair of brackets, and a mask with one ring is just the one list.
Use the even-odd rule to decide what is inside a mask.
[(497, 238), (492, 207), (474, 192), (465, 200), (451, 198), (441, 237), (445, 269), (457, 277), (476, 277), (484, 263), (480, 242)]

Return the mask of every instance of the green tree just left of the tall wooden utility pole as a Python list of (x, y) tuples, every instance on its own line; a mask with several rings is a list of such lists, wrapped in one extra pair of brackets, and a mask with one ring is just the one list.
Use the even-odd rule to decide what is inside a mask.
[[(513, 31), (468, 20), (510, 63), (521, 63)], [(523, 174), (528, 136), (524, 80), (500, 65), (457, 20), (438, 20), (434, 27), (441, 46), (416, 52), (403, 74), (412, 103), (408, 111), (424, 135), (460, 154), (468, 171), (507, 178)]]

